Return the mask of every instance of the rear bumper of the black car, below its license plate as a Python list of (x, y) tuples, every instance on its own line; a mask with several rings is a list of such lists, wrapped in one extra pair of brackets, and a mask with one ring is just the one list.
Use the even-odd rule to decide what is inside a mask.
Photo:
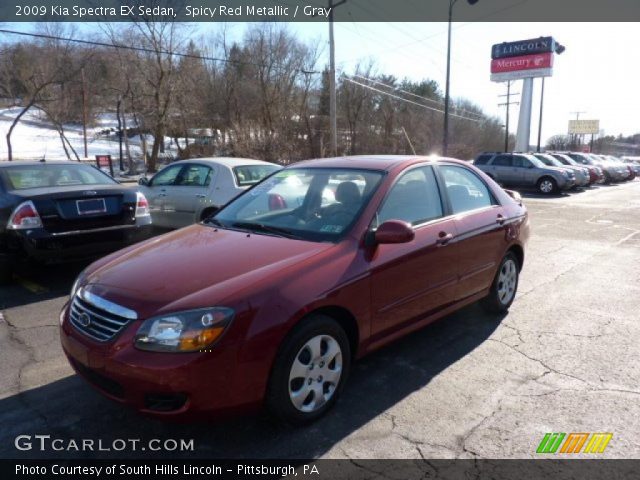
[(151, 219), (135, 225), (51, 234), (43, 228), (7, 231), (7, 252), (16, 260), (61, 263), (113, 252), (152, 235)]

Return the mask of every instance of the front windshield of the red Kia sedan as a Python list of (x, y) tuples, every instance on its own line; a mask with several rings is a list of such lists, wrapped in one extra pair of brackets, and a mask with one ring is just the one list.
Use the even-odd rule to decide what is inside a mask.
[(205, 223), (311, 241), (337, 241), (378, 187), (376, 170), (289, 168), (275, 173)]

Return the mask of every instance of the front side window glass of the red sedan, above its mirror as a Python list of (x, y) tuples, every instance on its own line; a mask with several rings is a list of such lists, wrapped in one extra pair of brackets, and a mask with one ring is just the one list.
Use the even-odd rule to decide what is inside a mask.
[(391, 188), (377, 215), (377, 225), (404, 220), (411, 225), (435, 220), (444, 214), (438, 184), (430, 166), (411, 169)]

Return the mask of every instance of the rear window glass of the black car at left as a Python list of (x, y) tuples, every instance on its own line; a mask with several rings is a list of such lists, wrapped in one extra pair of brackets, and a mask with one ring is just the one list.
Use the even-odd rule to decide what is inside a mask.
[(8, 190), (117, 184), (107, 174), (89, 165), (12, 165), (0, 169)]

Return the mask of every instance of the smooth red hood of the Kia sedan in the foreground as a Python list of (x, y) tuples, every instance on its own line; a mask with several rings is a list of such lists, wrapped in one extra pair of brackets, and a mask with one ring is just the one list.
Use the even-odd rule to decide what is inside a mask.
[(114, 256), (83, 283), (145, 318), (213, 306), (334, 246), (193, 225)]

